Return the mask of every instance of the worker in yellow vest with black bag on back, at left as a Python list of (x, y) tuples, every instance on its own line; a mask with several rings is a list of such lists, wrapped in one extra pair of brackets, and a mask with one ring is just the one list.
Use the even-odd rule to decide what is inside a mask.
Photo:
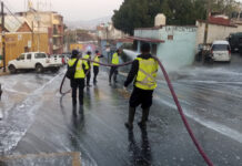
[[(71, 89), (72, 89), (72, 105), (73, 105), (73, 113), (77, 114), (77, 90), (79, 89), (79, 104), (80, 111), (83, 108), (83, 89), (84, 89), (84, 69), (85, 63), (82, 60), (78, 59), (79, 52), (77, 50), (72, 51), (71, 59), (68, 61), (68, 68), (75, 66), (74, 77), (71, 79)], [(78, 61), (78, 62), (75, 62)]]

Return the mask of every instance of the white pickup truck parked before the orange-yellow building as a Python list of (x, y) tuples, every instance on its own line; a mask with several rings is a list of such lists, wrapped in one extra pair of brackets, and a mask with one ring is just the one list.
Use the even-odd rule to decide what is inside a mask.
[(16, 73), (19, 70), (36, 70), (38, 73), (41, 73), (44, 70), (57, 72), (61, 65), (48, 58), (43, 52), (27, 52), (16, 60), (9, 61), (8, 69), (10, 73)]

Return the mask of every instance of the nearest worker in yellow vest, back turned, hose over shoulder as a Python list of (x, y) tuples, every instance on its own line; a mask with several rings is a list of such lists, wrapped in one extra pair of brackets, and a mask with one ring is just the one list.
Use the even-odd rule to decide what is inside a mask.
[(141, 128), (145, 128), (152, 105), (153, 91), (157, 87), (158, 62), (150, 54), (150, 44), (141, 45), (141, 55), (133, 61), (131, 71), (124, 82), (124, 90), (134, 80), (133, 92), (130, 97), (129, 118), (125, 127), (133, 128), (135, 107), (141, 104), (142, 118), (138, 123)]

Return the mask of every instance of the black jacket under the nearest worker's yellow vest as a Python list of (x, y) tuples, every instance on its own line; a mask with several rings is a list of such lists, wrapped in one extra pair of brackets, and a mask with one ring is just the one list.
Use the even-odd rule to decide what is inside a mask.
[[(152, 56), (151, 56), (151, 54), (140, 54), (140, 55), (138, 55), (138, 58), (148, 60)], [(139, 71), (139, 61), (134, 60), (132, 63), (132, 68), (130, 70), (130, 73), (127, 77), (127, 81), (124, 82), (125, 87), (129, 86), (129, 84), (134, 80), (134, 77), (137, 77), (138, 71)]]

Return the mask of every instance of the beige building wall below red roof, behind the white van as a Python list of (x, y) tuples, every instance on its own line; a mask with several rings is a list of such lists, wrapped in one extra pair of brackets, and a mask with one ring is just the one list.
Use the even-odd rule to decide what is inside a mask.
[[(196, 45), (203, 43), (205, 23), (196, 21)], [(242, 25), (225, 27), (218, 24), (209, 24), (208, 43), (212, 43), (214, 40), (225, 40), (230, 33), (242, 32)]]

